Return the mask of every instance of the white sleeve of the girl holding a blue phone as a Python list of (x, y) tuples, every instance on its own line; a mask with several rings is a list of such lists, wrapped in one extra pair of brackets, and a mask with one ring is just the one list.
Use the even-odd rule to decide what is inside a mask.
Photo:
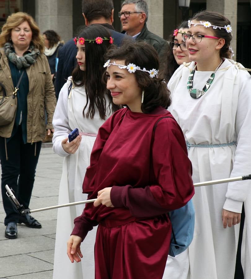
[(68, 78), (59, 93), (58, 102), (56, 105), (55, 113), (52, 120), (54, 127), (54, 134), (52, 138), (53, 151), (60, 156), (66, 157), (70, 155), (62, 147), (62, 140), (68, 138), (69, 133), (72, 131), (69, 126), (68, 118), (68, 88), (71, 80)]

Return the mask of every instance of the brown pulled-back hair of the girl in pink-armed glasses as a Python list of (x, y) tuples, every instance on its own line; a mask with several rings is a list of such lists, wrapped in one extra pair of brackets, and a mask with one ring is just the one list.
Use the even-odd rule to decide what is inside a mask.
[(216, 37), (225, 39), (225, 44), (220, 50), (220, 57), (231, 59), (232, 51), (229, 49), (229, 47), (232, 40), (232, 33), (227, 33), (226, 29), (224, 28), (225, 25), (227, 26), (231, 24), (230, 20), (228, 20), (224, 15), (212, 11), (200, 11), (192, 17), (192, 20), (209, 21), (212, 25), (222, 26), (223, 28), (221, 29), (213, 29), (213, 27), (210, 28), (212, 28), (211, 30), (213, 30)]

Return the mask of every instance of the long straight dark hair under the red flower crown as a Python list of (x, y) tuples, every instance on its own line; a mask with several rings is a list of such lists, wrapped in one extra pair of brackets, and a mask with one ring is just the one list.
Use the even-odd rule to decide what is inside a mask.
[[(110, 33), (108, 29), (99, 24), (90, 25), (85, 27), (77, 36), (77, 38), (95, 39), (97, 37), (109, 38)], [(93, 119), (95, 109), (98, 109), (99, 116), (101, 119), (106, 118), (106, 107), (107, 102), (105, 96), (108, 96), (109, 105), (112, 104), (112, 112), (115, 112), (120, 106), (112, 103), (112, 96), (108, 94), (106, 85), (102, 82), (102, 75), (105, 71), (104, 65), (104, 54), (107, 48), (111, 44), (109, 40), (104, 40), (101, 44), (85, 43), (85, 71), (81, 71), (77, 65), (72, 73), (72, 79), (75, 86), (85, 86), (86, 90), (86, 105), (83, 109), (83, 116), (90, 117)], [(85, 113), (88, 103), (90, 102), (89, 108)], [(111, 110), (110, 110), (111, 113)]]

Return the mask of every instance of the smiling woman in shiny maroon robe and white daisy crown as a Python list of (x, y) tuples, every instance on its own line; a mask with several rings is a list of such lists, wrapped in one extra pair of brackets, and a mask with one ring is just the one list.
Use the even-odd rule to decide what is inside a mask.
[(192, 166), (183, 132), (166, 110), (170, 92), (157, 77), (156, 51), (127, 42), (106, 56), (107, 88), (127, 108), (99, 128), (83, 182), (83, 193), (97, 200), (74, 220), (67, 254), (79, 262), (81, 241), (99, 224), (96, 279), (158, 279), (170, 246), (166, 213), (192, 198)]

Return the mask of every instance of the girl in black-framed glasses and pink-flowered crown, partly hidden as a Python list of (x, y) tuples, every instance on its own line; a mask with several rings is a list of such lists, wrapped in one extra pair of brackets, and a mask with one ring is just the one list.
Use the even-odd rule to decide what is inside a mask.
[(182, 39), (182, 34), (188, 30), (187, 21), (183, 21), (169, 37), (169, 46), (165, 61), (162, 64), (165, 81), (168, 82), (176, 69), (183, 62), (191, 62), (188, 57), (186, 43)]

